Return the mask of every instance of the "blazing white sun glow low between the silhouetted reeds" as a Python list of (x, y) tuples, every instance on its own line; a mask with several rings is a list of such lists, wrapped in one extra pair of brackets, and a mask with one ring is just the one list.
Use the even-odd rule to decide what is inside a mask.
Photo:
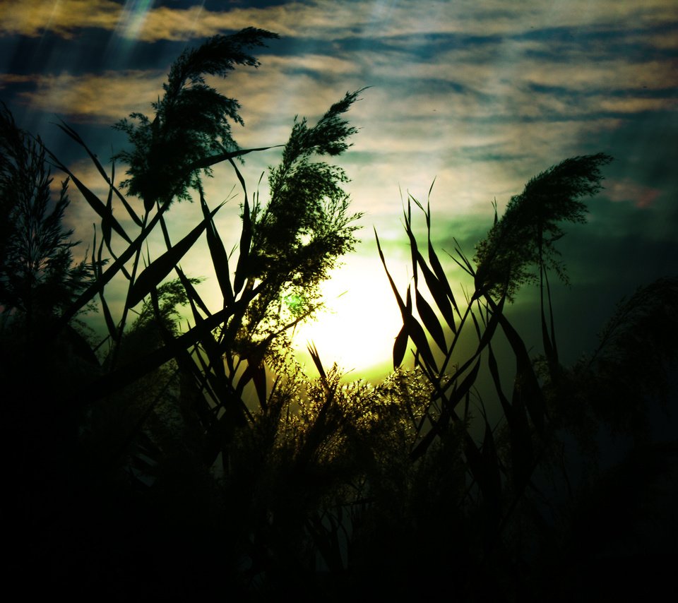
[(294, 336), (299, 360), (307, 371), (315, 371), (307, 353), (312, 342), (326, 369), (336, 362), (352, 371), (354, 378), (366, 376), (364, 371), (369, 369), (384, 376), (402, 321), (379, 259), (350, 258), (323, 285), (322, 292), (326, 309), (316, 321), (297, 328)]

